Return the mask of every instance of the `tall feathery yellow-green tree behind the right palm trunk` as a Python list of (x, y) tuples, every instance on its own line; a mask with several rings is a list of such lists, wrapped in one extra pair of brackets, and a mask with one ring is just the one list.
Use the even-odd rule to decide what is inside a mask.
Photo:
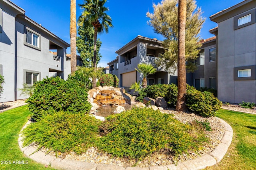
[[(197, 8), (195, 0), (186, 1), (186, 29), (185, 29), (185, 58), (188, 69), (193, 71), (194, 65), (190, 62), (198, 57), (199, 33), (205, 18), (202, 17), (201, 8)], [(153, 14), (147, 12), (148, 24), (156, 33), (165, 39), (163, 46), (166, 51), (156, 62), (158, 66), (165, 66), (169, 72), (174, 72), (178, 63), (178, 0), (162, 0), (153, 4)]]

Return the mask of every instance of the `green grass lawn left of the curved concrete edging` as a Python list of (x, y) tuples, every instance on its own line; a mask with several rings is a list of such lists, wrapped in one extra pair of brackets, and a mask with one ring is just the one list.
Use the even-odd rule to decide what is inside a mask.
[[(30, 112), (27, 106), (0, 113), (0, 169), (1, 170), (54, 170), (26, 158), (20, 151), (18, 137), (28, 121)], [(20, 161), (19, 163), (16, 161)], [(10, 164), (6, 164), (10, 162)], [(14, 164), (15, 163), (15, 164)]]

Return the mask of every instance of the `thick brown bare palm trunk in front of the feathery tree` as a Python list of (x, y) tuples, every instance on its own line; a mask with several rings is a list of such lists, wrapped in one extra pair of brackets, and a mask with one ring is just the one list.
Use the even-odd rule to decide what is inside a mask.
[(178, 2), (178, 97), (176, 111), (187, 111), (185, 65), (186, 0)]

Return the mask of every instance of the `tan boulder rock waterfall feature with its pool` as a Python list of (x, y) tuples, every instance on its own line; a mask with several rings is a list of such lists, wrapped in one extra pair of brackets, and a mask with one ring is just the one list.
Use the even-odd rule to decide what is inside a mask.
[(92, 105), (90, 113), (106, 117), (131, 109), (135, 96), (126, 93), (122, 88), (99, 86), (88, 91), (88, 102)]

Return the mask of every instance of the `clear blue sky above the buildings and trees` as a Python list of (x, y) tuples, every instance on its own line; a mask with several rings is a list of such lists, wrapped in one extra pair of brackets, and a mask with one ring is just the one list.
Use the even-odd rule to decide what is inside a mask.
[[(26, 16), (41, 23), (43, 27), (70, 43), (70, 0), (11, 0), (26, 11)], [(113, 28), (109, 33), (98, 35), (102, 46), (100, 53), (102, 59), (98, 66), (106, 67), (107, 63), (117, 56), (115, 51), (134, 39), (137, 35), (163, 40), (161, 35), (154, 33), (153, 28), (147, 24), (149, 18), (146, 12), (153, 12), (152, 3), (159, 3), (161, 0), (108, 0), (106, 7), (109, 8), (108, 15), (112, 18)], [(210, 21), (209, 17), (216, 12), (229, 8), (242, 2), (242, 0), (197, 0), (196, 4), (202, 8), (203, 17), (206, 21), (201, 29), (200, 36), (207, 39), (213, 35), (209, 29), (217, 26), (217, 23)], [(83, 0), (76, 0), (82, 4)], [(81, 15), (77, 5), (76, 16)], [(70, 48), (67, 49), (70, 53)]]

